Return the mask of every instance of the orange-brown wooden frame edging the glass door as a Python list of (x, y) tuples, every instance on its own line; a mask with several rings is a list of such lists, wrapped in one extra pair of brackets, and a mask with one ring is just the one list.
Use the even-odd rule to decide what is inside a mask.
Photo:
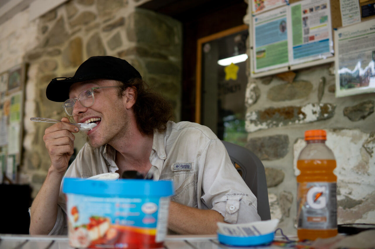
[(211, 34), (209, 36), (202, 37), (197, 40), (196, 47), (196, 84), (195, 84), (195, 123), (201, 123), (201, 102), (202, 102), (202, 44), (216, 40), (231, 34), (248, 30), (249, 26), (246, 24), (229, 28), (227, 30), (220, 31), (219, 33)]

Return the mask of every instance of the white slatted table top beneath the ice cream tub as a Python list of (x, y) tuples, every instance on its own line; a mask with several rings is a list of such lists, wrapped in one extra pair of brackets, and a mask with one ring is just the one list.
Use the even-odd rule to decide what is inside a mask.
[[(279, 236), (275, 236), (275, 239)], [(168, 235), (164, 249), (255, 249), (256, 247), (231, 247), (220, 244), (216, 235)], [(262, 246), (262, 249), (277, 248)], [(0, 234), (0, 249), (72, 249), (67, 236), (29, 236)]]

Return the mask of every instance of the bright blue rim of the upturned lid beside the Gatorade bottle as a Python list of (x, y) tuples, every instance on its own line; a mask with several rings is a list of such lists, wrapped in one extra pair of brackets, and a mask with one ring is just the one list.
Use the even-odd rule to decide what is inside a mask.
[(265, 245), (273, 241), (275, 233), (267, 233), (259, 236), (228, 236), (217, 233), (217, 240), (220, 243), (231, 246), (258, 246)]

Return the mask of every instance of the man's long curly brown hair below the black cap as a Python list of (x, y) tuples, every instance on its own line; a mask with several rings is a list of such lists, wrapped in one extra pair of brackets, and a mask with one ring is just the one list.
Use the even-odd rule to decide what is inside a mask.
[(133, 111), (139, 131), (145, 135), (153, 134), (154, 129), (165, 131), (166, 123), (173, 117), (171, 104), (142, 79), (135, 78), (120, 83), (122, 84), (118, 96), (121, 96), (127, 87), (136, 89)]

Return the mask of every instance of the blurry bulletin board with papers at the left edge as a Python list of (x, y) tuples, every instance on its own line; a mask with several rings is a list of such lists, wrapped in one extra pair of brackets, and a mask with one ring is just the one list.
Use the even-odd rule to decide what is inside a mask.
[(0, 181), (17, 182), (21, 163), (26, 64), (0, 73)]

